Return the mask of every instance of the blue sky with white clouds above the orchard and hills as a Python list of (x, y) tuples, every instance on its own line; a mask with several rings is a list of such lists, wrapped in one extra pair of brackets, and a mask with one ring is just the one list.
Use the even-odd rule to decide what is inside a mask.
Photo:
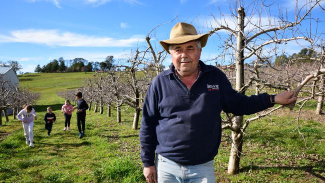
[[(323, 0), (324, 1), (324, 0)], [(177, 21), (193, 22), (206, 32), (211, 14), (219, 17), (220, 9), (230, 14), (230, 0), (0, 0), (0, 61), (16, 60), (23, 72), (33, 72), (52, 59), (82, 57), (103, 61), (107, 55), (118, 59), (130, 48), (144, 44), (147, 33), (163, 24), (151, 41), (167, 39)], [(248, 6), (251, 1), (241, 1)], [(299, 3), (305, 2), (299, 0)], [(278, 7), (293, 14), (295, 0), (272, 0), (273, 15)], [(321, 3), (325, 7), (324, 3)], [(317, 7), (313, 15), (324, 18)], [(325, 24), (325, 23), (323, 23)], [(324, 31), (324, 25), (318, 26)], [(314, 28), (314, 27), (312, 27)], [(214, 35), (216, 37), (216, 35)], [(210, 40), (211, 39), (211, 40)], [(203, 59), (219, 51), (216, 39), (209, 38), (203, 48)], [(302, 45), (292, 43), (288, 53), (298, 52)], [(170, 62), (168, 58), (166, 60)], [(168, 64), (168, 63), (166, 63)]]

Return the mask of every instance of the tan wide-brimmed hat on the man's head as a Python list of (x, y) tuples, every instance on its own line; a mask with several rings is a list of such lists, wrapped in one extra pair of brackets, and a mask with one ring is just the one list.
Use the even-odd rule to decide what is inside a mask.
[(179, 22), (171, 28), (169, 39), (160, 40), (159, 43), (169, 53), (168, 46), (170, 44), (181, 44), (196, 39), (199, 39), (201, 41), (201, 47), (204, 47), (208, 36), (208, 33), (198, 35), (193, 25)]

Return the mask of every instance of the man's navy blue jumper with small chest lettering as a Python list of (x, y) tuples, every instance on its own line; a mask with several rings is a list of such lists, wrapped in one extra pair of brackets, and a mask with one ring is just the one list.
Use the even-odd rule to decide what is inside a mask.
[(220, 145), (222, 110), (243, 115), (273, 106), (267, 93), (242, 95), (221, 70), (202, 61), (199, 65), (201, 73), (189, 90), (174, 66), (151, 82), (139, 134), (144, 167), (154, 165), (155, 152), (193, 165), (212, 160)]

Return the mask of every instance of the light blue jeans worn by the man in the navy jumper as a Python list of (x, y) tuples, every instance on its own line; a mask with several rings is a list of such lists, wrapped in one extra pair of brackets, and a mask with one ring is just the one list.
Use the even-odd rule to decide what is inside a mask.
[(215, 183), (213, 160), (187, 166), (157, 154), (155, 168), (157, 183)]

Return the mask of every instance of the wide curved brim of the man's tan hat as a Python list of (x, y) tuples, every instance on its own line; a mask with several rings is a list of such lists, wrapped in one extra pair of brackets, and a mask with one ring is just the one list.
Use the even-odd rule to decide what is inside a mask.
[(167, 40), (160, 40), (159, 43), (163, 47), (163, 49), (170, 54), (168, 47), (170, 44), (182, 44), (191, 40), (196, 40), (199, 39), (201, 41), (201, 47), (204, 47), (207, 42), (209, 34), (200, 34), (200, 35), (185, 35), (185, 36), (180, 36), (180, 37), (175, 37), (172, 39), (167, 39)]

